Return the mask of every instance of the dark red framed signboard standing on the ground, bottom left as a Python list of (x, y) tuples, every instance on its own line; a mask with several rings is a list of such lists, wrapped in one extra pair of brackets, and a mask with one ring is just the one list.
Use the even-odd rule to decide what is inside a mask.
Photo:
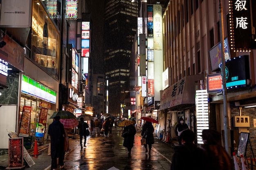
[(23, 166), (23, 138), (9, 138), (8, 167), (18, 168)]

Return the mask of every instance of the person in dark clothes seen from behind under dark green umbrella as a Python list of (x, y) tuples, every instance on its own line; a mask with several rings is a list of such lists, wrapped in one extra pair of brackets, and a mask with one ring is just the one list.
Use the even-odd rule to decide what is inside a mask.
[(51, 170), (57, 169), (57, 158), (58, 164), (60, 165), (60, 168), (64, 167), (64, 126), (59, 121), (60, 116), (54, 117), (54, 121), (52, 124), (49, 125), (48, 128), (48, 134), (51, 137), (51, 158), (52, 158), (52, 165)]

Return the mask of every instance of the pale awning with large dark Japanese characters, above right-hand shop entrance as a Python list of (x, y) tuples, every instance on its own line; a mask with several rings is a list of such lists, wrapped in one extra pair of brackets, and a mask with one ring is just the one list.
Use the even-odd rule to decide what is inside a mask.
[(165, 110), (177, 105), (195, 104), (195, 86), (199, 89), (203, 74), (191, 75), (164, 90), (161, 96), (160, 110)]

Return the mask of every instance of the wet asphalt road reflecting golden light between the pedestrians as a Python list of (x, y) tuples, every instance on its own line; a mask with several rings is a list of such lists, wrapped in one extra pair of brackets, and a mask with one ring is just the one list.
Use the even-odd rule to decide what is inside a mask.
[(65, 170), (169, 170), (173, 154), (171, 145), (156, 140), (149, 155), (140, 144), (141, 137), (138, 135), (135, 135), (130, 156), (123, 146), (121, 130), (113, 130), (108, 138), (88, 137), (87, 147), (82, 151), (79, 137), (73, 139), (70, 142), (70, 148), (73, 149), (65, 156)]

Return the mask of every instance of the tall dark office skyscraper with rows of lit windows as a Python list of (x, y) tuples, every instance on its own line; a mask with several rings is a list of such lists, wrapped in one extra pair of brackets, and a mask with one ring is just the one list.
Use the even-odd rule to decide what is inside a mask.
[(130, 90), (130, 55), (137, 30), (137, 17), (137, 1), (105, 1), (106, 112), (115, 116), (121, 114), (120, 105), (126, 98), (122, 92)]

